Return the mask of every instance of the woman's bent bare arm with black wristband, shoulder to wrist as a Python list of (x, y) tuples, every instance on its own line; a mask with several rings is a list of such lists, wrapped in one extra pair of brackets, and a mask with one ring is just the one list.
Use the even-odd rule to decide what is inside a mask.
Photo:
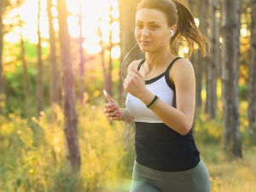
[[(166, 102), (158, 101), (151, 110), (169, 127), (186, 135), (193, 125), (195, 114), (195, 73), (192, 64), (186, 60), (180, 60), (172, 66), (169, 78), (176, 88), (177, 108), (173, 108)], [(154, 95), (147, 90), (139, 99), (148, 105)]]

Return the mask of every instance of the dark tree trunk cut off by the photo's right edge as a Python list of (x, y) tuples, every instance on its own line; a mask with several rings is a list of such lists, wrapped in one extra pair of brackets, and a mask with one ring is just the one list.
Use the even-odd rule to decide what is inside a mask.
[(252, 143), (256, 143), (256, 0), (252, 3), (251, 26), (251, 64), (249, 66), (248, 86), (248, 122), (249, 135)]

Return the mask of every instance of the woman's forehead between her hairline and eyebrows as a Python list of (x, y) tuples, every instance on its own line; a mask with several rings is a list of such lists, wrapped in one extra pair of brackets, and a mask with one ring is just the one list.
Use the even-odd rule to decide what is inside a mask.
[(136, 21), (167, 24), (166, 15), (158, 9), (139, 9), (136, 14)]

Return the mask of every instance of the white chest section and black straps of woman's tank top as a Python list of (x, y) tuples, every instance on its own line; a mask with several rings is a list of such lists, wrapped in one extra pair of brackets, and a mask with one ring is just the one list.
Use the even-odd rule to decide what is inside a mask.
[[(160, 74), (159, 76), (145, 80), (146, 88), (154, 95), (159, 96), (162, 102), (166, 102), (176, 108), (176, 92), (175, 86), (169, 79), (169, 71), (172, 64), (180, 59), (181, 57), (176, 57), (170, 65), (167, 67), (166, 72)], [(141, 65), (145, 59), (143, 59), (137, 70), (139, 71)], [(134, 117), (136, 122), (147, 122), (147, 123), (163, 123), (151, 109), (147, 108), (146, 105), (139, 100), (136, 96), (132, 96), (129, 92), (126, 96), (125, 107)]]

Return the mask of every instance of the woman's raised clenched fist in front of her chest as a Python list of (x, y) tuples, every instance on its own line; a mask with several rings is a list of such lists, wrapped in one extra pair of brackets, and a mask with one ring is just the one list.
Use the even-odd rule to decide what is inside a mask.
[(143, 75), (134, 68), (131, 68), (130, 73), (128, 73), (125, 78), (123, 86), (125, 90), (137, 98), (141, 98), (147, 91)]

